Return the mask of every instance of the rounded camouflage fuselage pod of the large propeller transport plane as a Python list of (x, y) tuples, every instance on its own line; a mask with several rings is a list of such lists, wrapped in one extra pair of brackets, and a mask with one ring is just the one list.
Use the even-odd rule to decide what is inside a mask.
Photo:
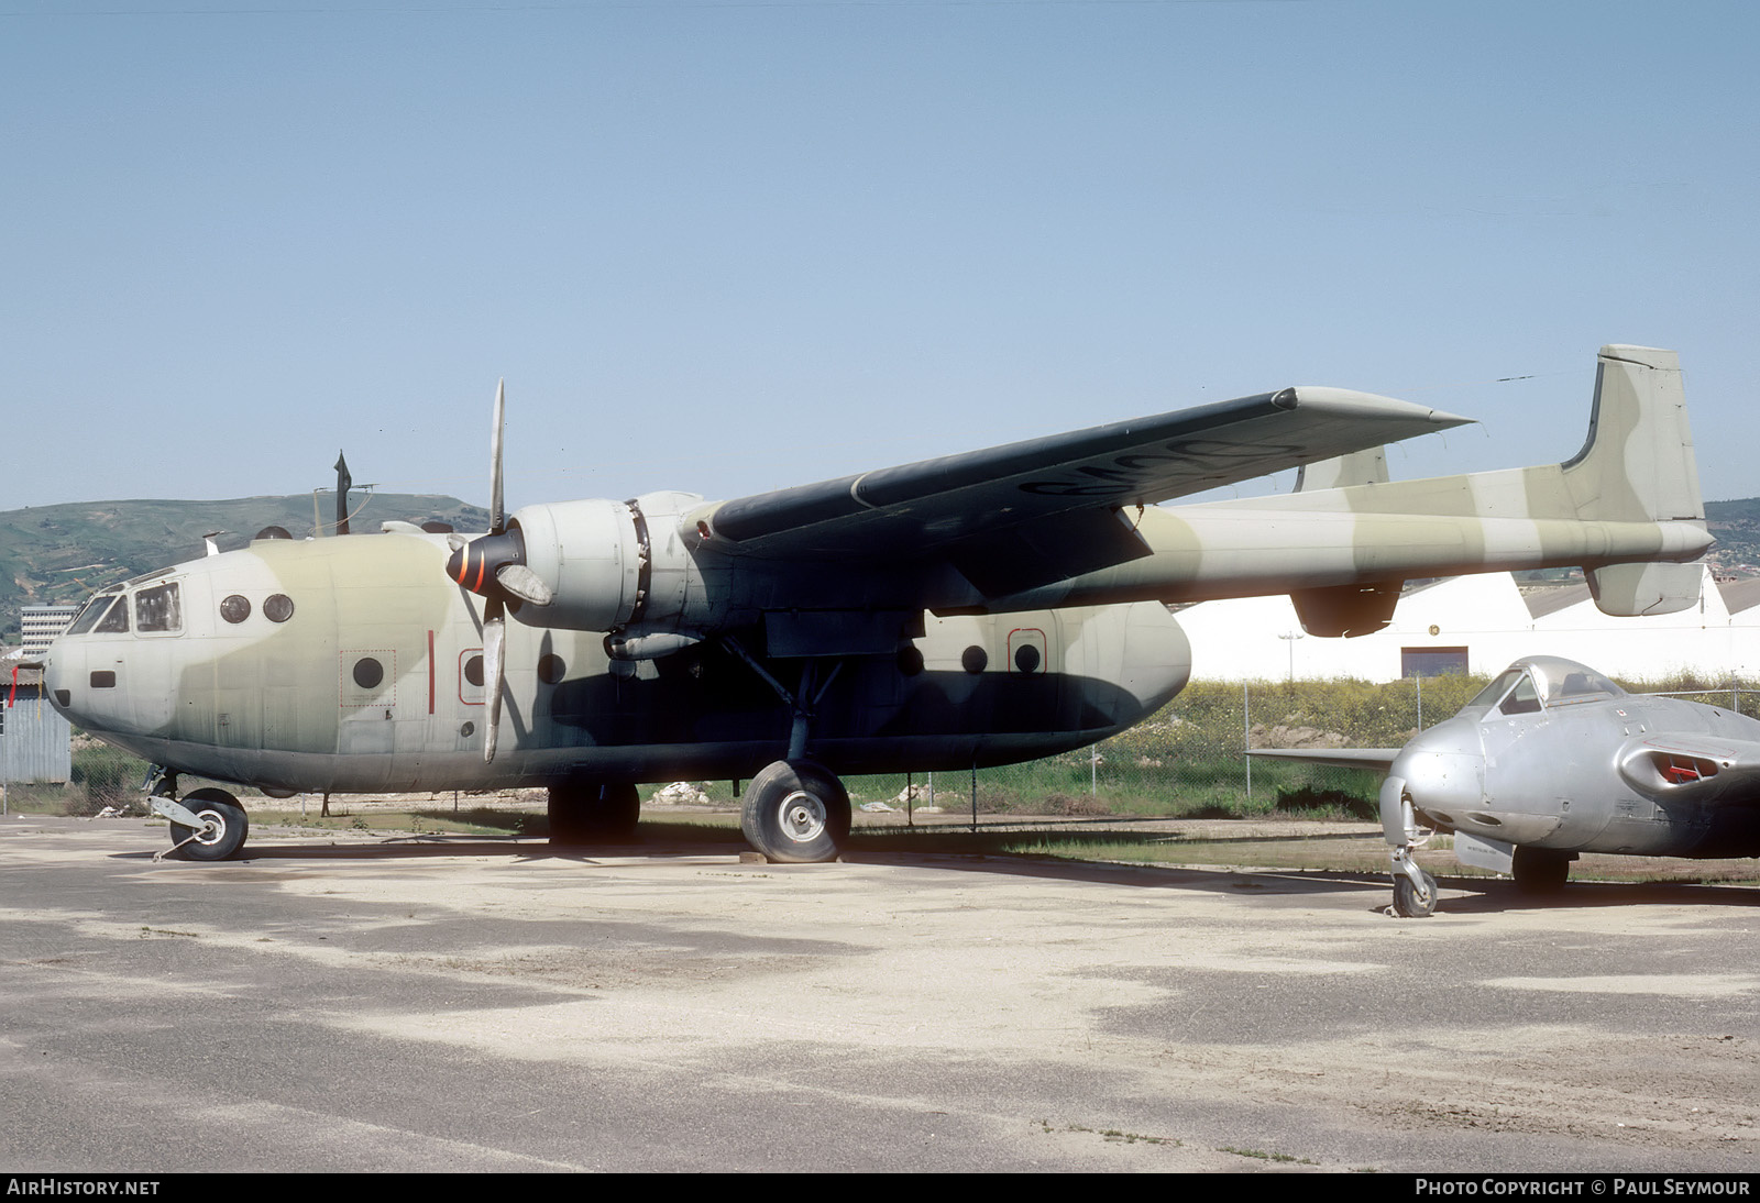
[(808, 753), (836, 772), (1007, 763), (1123, 730), (1190, 672), (1153, 602), (926, 617), (885, 654), (815, 661), (757, 633), (750, 660), (715, 638), (612, 658), (605, 631), (509, 623), (486, 763), (482, 600), (447, 554), (405, 529), (271, 538), (141, 577), (49, 649), (49, 695), (167, 769), (350, 793), (750, 776), (788, 747), (778, 686), (810, 693)]

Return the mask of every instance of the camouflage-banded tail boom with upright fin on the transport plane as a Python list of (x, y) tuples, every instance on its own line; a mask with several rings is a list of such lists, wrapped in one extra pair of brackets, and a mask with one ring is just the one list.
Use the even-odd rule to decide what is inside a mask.
[[(1561, 464), (1392, 484), (1357, 475), (1366, 477), (1148, 510), (1137, 535), (1149, 556), (986, 609), (1272, 593), (1301, 603), (1308, 593), (1304, 617), (1327, 616), (1315, 633), (1359, 635), (1385, 624), (1389, 591), (1410, 577), (1580, 566), (1600, 609), (1623, 616), (1667, 614), (1698, 596), (1698, 566), (1688, 561), (1712, 540), (1674, 352), (1603, 346), (1589, 438)], [(1343, 593), (1316, 596), (1334, 589)]]

